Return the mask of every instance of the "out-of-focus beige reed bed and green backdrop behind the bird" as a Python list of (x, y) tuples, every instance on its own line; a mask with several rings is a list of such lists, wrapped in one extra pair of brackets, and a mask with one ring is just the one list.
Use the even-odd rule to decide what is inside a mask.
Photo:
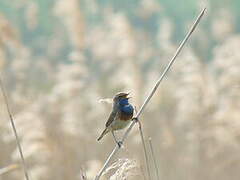
[[(111, 108), (98, 100), (131, 91), (139, 108), (204, 6), (141, 121), (161, 180), (239, 180), (240, 1), (0, 1), (0, 70), (32, 180), (96, 175), (114, 146), (96, 142)], [(3, 168), (20, 159), (0, 101)], [(143, 179), (137, 128), (118, 158), (103, 179)]]

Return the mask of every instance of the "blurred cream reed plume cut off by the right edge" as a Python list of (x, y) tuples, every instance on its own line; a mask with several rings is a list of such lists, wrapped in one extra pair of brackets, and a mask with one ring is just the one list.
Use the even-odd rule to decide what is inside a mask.
[[(237, 102), (240, 100), (239, 89), (235, 88), (240, 84), (238, 73), (240, 55), (237, 48), (239, 43), (240, 37), (235, 35), (228, 38), (223, 45), (216, 47), (214, 51), (213, 67), (217, 73), (217, 88), (221, 95), (220, 103), (230, 107), (237, 107)], [(232, 106), (233, 104), (235, 105)]]

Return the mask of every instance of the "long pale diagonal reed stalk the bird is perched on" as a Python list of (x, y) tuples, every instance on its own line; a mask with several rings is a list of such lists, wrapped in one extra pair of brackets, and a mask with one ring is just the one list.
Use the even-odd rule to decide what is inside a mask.
[[(150, 101), (150, 99), (152, 98), (152, 96), (155, 94), (158, 86), (160, 85), (160, 83), (162, 82), (163, 78), (165, 77), (166, 73), (169, 71), (170, 67), (172, 66), (172, 64), (174, 63), (175, 59), (177, 58), (177, 56), (179, 55), (179, 53), (181, 52), (182, 48), (184, 47), (184, 45), (186, 44), (187, 40), (190, 38), (191, 34), (193, 33), (193, 31), (195, 30), (195, 28), (197, 27), (197, 25), (199, 24), (202, 16), (204, 15), (206, 8), (204, 8), (200, 14), (198, 15), (196, 21), (193, 23), (190, 31), (188, 32), (188, 34), (185, 36), (185, 38), (183, 39), (183, 41), (181, 42), (181, 44), (179, 45), (178, 49), (176, 50), (173, 58), (171, 59), (171, 61), (169, 62), (169, 64), (167, 65), (167, 67), (165, 68), (165, 70), (163, 71), (162, 75), (160, 76), (160, 78), (157, 80), (156, 84), (154, 85), (153, 89), (151, 90), (150, 94), (147, 96), (146, 100), (144, 101), (143, 105), (141, 106), (140, 110), (138, 111), (136, 117), (133, 118), (133, 121), (131, 123), (131, 125), (128, 127), (128, 129), (126, 130), (126, 132), (124, 133), (123, 137), (122, 137), (122, 142), (124, 142), (124, 140), (127, 138), (128, 134), (130, 133), (131, 129), (133, 128), (133, 126), (135, 125), (135, 123), (138, 121), (139, 116), (142, 114), (143, 110), (145, 109), (146, 105), (148, 104), (148, 102)], [(105, 161), (102, 169), (99, 171), (98, 175), (96, 176), (95, 180), (99, 180), (101, 175), (103, 174), (103, 172), (105, 171), (105, 169), (107, 168), (110, 160), (112, 159), (112, 157), (118, 152), (119, 150), (119, 146), (116, 145), (115, 148), (113, 149), (113, 151), (111, 152), (111, 154), (108, 156), (107, 160)]]

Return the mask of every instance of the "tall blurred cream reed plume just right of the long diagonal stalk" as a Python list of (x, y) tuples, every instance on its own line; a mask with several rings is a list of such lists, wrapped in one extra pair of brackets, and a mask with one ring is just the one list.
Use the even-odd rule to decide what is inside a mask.
[[(199, 119), (204, 111), (203, 99), (207, 88), (204, 83), (203, 69), (197, 57), (190, 50), (186, 50), (176, 63), (176, 123), (181, 126), (193, 126), (193, 119)], [(175, 88), (175, 89), (176, 89)], [(200, 108), (201, 107), (201, 108)]]

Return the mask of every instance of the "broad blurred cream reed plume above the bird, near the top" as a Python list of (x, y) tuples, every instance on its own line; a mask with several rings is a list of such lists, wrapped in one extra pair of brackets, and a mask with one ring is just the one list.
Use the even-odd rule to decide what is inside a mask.
[(96, 59), (104, 60), (103, 68), (106, 69), (112, 65), (111, 61), (123, 61), (134, 56), (137, 49), (132, 27), (125, 15), (112, 11), (108, 13), (105, 24), (90, 31), (86, 38), (87, 46), (91, 48)]

